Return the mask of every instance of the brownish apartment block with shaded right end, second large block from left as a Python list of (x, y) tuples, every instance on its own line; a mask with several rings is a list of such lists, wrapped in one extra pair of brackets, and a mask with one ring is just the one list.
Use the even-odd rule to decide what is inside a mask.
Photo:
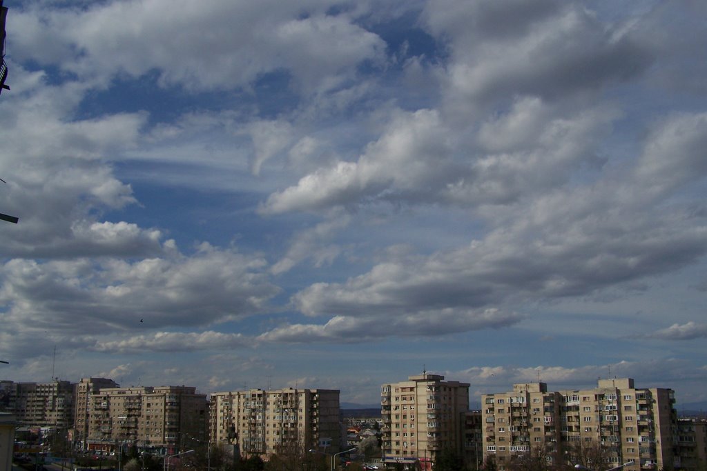
[(188, 386), (102, 388), (88, 404), (89, 449), (118, 443), (173, 452), (206, 440), (206, 395)]

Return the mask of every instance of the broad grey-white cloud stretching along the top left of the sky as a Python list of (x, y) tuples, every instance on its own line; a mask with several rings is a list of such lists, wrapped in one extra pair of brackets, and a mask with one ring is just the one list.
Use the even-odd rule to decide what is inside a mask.
[(347, 16), (327, 14), (328, 7), (327, 1), (141, 0), (59, 10), (33, 4), (13, 12), (13, 51), (83, 80), (157, 70), (165, 86), (226, 90), (285, 69), (303, 90), (326, 90), (361, 61), (381, 59), (385, 49), (380, 37)]

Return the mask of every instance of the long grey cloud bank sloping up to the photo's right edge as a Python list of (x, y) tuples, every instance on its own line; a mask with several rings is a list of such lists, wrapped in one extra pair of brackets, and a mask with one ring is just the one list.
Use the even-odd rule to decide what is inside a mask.
[[(510, 299), (586, 296), (693, 263), (707, 252), (704, 217), (679, 205), (662, 214), (657, 202), (703, 177), (703, 165), (694, 163), (703, 136), (696, 129), (707, 131), (702, 123), (701, 114), (667, 119), (646, 138), (629, 174), (607, 173), (592, 184), (485, 210), (496, 228), (467, 246), (378, 263), (343, 283), (311, 285), (293, 302), (310, 316), (495, 307)], [(662, 177), (667, 172), (651, 170), (654, 162), (680, 170)]]

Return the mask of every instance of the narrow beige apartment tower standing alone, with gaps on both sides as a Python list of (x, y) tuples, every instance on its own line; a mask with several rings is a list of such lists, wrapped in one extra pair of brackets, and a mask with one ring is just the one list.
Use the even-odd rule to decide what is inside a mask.
[(382, 453), (386, 463), (429, 468), (445, 448), (464, 453), (469, 384), (423, 373), (380, 388)]

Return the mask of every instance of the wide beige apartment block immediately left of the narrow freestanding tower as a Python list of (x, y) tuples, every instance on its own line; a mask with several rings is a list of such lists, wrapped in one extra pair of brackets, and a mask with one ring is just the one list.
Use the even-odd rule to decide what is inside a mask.
[(339, 390), (251, 389), (211, 394), (213, 443), (237, 445), (240, 454), (337, 453), (341, 436)]

